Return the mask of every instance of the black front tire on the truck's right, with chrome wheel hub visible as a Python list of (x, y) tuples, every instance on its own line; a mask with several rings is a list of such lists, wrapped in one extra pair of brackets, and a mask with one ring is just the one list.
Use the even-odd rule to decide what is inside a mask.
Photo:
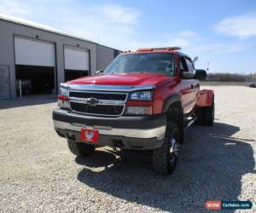
[[(172, 146), (173, 139), (176, 141), (174, 146)], [(156, 173), (170, 175), (172, 174), (172, 171), (175, 170), (179, 153), (179, 142), (177, 124), (171, 122), (168, 123), (163, 145), (153, 150), (153, 166)], [(174, 147), (175, 152), (171, 152), (172, 147)]]

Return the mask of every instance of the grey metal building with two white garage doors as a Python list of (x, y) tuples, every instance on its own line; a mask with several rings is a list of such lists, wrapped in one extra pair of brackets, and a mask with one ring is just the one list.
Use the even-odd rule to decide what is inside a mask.
[(0, 99), (57, 93), (59, 84), (103, 70), (119, 50), (0, 16)]

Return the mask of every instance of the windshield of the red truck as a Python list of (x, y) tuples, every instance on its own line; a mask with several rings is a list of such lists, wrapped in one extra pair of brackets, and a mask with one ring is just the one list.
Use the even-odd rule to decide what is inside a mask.
[(104, 73), (158, 72), (174, 76), (174, 57), (170, 53), (142, 53), (117, 56)]

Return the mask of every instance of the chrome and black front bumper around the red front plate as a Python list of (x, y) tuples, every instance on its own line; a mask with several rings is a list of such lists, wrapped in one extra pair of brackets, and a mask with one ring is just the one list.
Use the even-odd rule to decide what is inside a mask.
[(99, 147), (154, 149), (163, 144), (166, 133), (165, 114), (105, 118), (55, 109), (53, 119), (56, 132), (73, 141), (80, 141), (82, 128), (98, 130), (100, 136), (96, 146)]

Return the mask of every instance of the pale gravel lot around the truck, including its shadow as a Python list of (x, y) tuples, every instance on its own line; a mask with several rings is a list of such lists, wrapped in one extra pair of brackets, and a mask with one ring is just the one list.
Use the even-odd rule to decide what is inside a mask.
[(154, 174), (145, 153), (101, 148), (75, 158), (53, 129), (55, 97), (0, 101), (0, 212), (200, 212), (209, 199), (255, 205), (256, 89), (211, 88), (215, 124), (186, 132), (168, 177)]

